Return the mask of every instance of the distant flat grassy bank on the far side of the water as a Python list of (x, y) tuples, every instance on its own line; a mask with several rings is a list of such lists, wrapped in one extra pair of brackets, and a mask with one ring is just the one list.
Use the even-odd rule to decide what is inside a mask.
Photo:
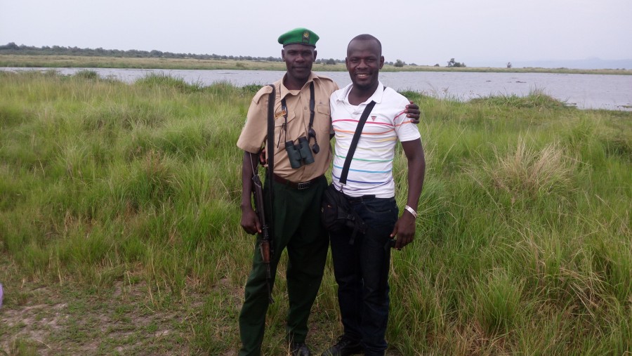
[[(79, 68), (140, 68), (166, 70), (285, 70), (284, 62), (259, 60), (202, 60), (193, 58), (122, 58), (89, 57), (81, 55), (0, 55), (0, 67), (79, 67)], [(317, 72), (345, 72), (345, 65), (315, 64)], [(565, 74), (621, 74), (632, 75), (632, 70), (573, 70), (568, 68), (492, 68), (492, 67), (434, 67), (429, 65), (384, 65), (386, 72), (506, 72), (506, 73), (565, 73)]]

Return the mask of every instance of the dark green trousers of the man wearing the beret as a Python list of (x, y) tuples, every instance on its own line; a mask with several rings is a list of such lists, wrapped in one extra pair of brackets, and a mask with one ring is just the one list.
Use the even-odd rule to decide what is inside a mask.
[[(327, 187), (322, 176), (304, 190), (296, 190), (279, 183), (273, 185), (272, 208), (274, 235), (270, 258), (270, 272), (274, 282), (279, 258), (287, 249), (286, 270), (289, 309), (287, 313), (287, 338), (305, 342), (308, 317), (320, 288), (329, 239), (320, 223), (320, 202)], [(268, 185), (264, 187), (268, 199)], [(269, 206), (268, 202), (265, 202)], [(266, 219), (270, 219), (267, 214)], [(261, 355), (265, 314), (268, 311), (268, 286), (265, 281), (265, 264), (259, 253), (259, 237), (255, 244), (252, 270), (246, 282), (245, 299), (239, 313), (239, 336), (242, 348), (239, 355)], [(275, 301), (282, 303), (283, 301)]]

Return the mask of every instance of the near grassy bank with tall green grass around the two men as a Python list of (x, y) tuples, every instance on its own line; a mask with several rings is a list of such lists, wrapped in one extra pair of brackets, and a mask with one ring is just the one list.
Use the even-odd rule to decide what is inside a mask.
[[(254, 91), (0, 72), (0, 353), (235, 355)], [(404, 95), (428, 172), (394, 251), (390, 355), (630, 352), (632, 113)], [(403, 204), (402, 154), (395, 171)], [(277, 277), (265, 355), (285, 350)], [(341, 333), (330, 263), (311, 326), (317, 351)]]

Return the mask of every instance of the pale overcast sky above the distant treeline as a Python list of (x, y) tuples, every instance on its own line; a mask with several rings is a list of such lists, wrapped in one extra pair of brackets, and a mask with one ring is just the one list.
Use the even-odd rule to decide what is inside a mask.
[(318, 58), (369, 33), (417, 65), (632, 59), (632, 0), (0, 0), (0, 45), (279, 57), (296, 27)]

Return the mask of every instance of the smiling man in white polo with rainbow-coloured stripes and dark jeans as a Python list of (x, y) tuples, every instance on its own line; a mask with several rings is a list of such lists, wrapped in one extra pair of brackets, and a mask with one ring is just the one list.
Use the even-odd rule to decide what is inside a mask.
[[(350, 230), (330, 232), (344, 334), (323, 355), (362, 351), (364, 355), (384, 355), (391, 240), (396, 237), (393, 246), (402, 249), (414, 239), (426, 161), (419, 130), (402, 111), (408, 100), (378, 79), (384, 64), (380, 41), (369, 34), (355, 37), (348, 45), (345, 63), (352, 83), (335, 91), (329, 100), (336, 135), (331, 176), (336, 189), (348, 197), (367, 224), (367, 232), (353, 240)], [(371, 101), (376, 105), (362, 128), (346, 184), (342, 185), (341, 171), (353, 134)], [(397, 141), (408, 160), (408, 198), (399, 217), (393, 180)]]

